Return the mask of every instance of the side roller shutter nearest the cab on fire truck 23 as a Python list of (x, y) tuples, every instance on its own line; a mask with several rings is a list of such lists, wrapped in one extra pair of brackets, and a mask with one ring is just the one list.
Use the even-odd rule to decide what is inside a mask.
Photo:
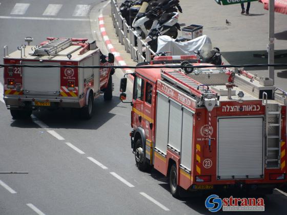
[(155, 147), (160, 152), (167, 154), (169, 132), (170, 103), (169, 98), (158, 92), (156, 107), (156, 133)]

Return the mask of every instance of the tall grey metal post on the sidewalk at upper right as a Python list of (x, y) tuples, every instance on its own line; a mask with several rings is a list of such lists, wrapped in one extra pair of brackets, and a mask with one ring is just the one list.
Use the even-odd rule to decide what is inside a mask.
[[(269, 0), (269, 44), (268, 44), (268, 63), (274, 63), (274, 1)], [(269, 78), (273, 79), (274, 84), (274, 67), (268, 67)]]

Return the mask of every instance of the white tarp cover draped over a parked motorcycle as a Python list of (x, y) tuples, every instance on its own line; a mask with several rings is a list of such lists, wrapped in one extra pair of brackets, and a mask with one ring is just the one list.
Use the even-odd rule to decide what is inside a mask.
[[(159, 36), (157, 38), (157, 51), (168, 52), (167, 55), (194, 55), (195, 50), (205, 53), (212, 49), (211, 39), (207, 35), (202, 35), (186, 42), (175, 42), (170, 36)], [(202, 53), (204, 54), (204, 53)]]

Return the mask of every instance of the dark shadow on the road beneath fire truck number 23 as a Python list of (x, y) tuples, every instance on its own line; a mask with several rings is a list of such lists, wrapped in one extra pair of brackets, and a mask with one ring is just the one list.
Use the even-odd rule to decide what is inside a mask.
[[(150, 173), (150, 176), (157, 180), (159, 185), (166, 189), (167, 192), (170, 193), (170, 187), (169, 187), (169, 180), (167, 177), (163, 176), (159, 171), (153, 169)], [(216, 194), (219, 196), (219, 198), (229, 198), (231, 196), (237, 197), (237, 198), (263, 198), (264, 204), (265, 204), (265, 211), (259, 211), (259, 212), (252, 212), (252, 211), (241, 211), (237, 212), (240, 214), (286, 214), (286, 208), (285, 204), (287, 201), (287, 196), (284, 196), (282, 193), (280, 193), (278, 190), (274, 190), (272, 195), (246, 195), (245, 192), (241, 191), (210, 191), (208, 193), (194, 193), (191, 195), (190, 193), (186, 192), (184, 193), (185, 197), (174, 199), (174, 201), (180, 201), (187, 206), (189, 206), (192, 210), (200, 213), (200, 214), (214, 214), (213, 212), (210, 212), (206, 206), (205, 201), (207, 197), (209, 197), (212, 194)], [(170, 194), (171, 196), (171, 194)], [(219, 210), (216, 212), (216, 214), (226, 214), (227, 211)], [(190, 214), (193, 214), (192, 211)]]

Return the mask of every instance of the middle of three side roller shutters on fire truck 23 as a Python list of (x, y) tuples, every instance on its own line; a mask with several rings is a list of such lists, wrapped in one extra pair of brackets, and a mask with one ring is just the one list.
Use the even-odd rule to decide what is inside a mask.
[(176, 153), (180, 153), (181, 145), (182, 110), (181, 105), (170, 101), (169, 140), (168, 146)]

